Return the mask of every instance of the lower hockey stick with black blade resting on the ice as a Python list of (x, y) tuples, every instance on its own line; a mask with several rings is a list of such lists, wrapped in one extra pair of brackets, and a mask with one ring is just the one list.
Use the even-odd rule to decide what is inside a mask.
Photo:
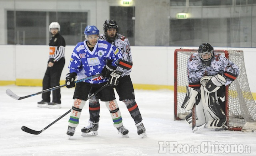
[[(89, 97), (87, 97), (86, 101), (88, 99), (90, 99), (92, 96), (96, 95), (98, 92), (100, 92), (101, 90), (103, 90), (104, 88), (106, 88), (108, 86), (108, 84), (102, 86), (100, 89), (98, 89), (95, 93), (93, 93), (92, 95), (90, 95)], [(22, 126), (21, 127), (21, 130), (27, 132), (27, 133), (30, 133), (30, 134), (35, 134), (35, 135), (38, 135), (40, 133), (42, 133), (44, 130), (46, 130), (47, 128), (49, 128), (51, 125), (53, 125), (55, 122), (59, 121), (61, 118), (65, 117), (66, 114), (70, 113), (71, 109), (66, 112), (65, 114), (61, 115), (58, 119), (54, 120), (54, 122), (50, 123), (48, 126), (46, 126), (45, 128), (43, 128), (42, 130), (39, 130), (39, 131), (36, 131), (36, 130), (33, 130), (33, 129), (30, 129), (26, 126)]]

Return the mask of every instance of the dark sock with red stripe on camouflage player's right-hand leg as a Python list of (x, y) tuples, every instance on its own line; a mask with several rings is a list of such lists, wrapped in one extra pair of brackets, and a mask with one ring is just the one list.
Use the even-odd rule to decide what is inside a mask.
[(137, 106), (137, 103), (135, 102), (135, 99), (125, 99), (123, 102), (126, 104), (126, 107), (131, 114), (135, 124), (138, 124), (142, 121), (142, 117), (139, 111), (139, 108)]

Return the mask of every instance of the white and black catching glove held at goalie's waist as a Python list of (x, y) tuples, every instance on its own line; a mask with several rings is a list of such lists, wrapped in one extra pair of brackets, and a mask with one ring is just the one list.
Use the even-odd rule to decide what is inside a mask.
[(204, 91), (213, 93), (219, 90), (220, 86), (225, 85), (226, 79), (222, 75), (204, 76), (200, 80), (200, 84), (204, 88)]

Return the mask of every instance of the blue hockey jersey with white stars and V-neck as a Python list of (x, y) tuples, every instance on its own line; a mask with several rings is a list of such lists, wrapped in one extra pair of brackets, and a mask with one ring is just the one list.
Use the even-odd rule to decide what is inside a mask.
[[(112, 44), (106, 41), (98, 41), (91, 51), (86, 45), (85, 40), (84, 42), (76, 44), (71, 55), (69, 70), (70, 73), (75, 72), (77, 74), (77, 79), (80, 80), (89, 76), (101, 74), (102, 69), (107, 64), (107, 60), (112, 60), (112, 63), (114, 63), (118, 59), (122, 59), (122, 53)], [(84, 82), (101, 84), (107, 80), (108, 78), (103, 78), (101, 76)]]

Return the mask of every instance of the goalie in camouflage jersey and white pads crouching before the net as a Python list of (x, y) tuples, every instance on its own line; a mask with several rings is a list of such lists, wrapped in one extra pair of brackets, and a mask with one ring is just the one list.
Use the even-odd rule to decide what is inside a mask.
[[(222, 54), (214, 52), (209, 43), (202, 43), (198, 52), (188, 59), (188, 87), (182, 108), (189, 111), (196, 104), (196, 126), (224, 130), (225, 86), (239, 75), (239, 68)], [(192, 113), (186, 121), (192, 124)]]

